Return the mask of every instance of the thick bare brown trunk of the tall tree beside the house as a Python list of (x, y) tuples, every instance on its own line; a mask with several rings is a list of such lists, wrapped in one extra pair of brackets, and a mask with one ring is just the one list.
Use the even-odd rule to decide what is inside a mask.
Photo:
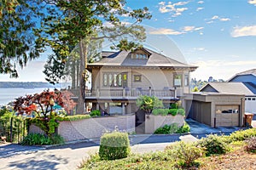
[(78, 114), (84, 113), (84, 103), (85, 103), (85, 77), (86, 77), (86, 66), (87, 66), (87, 54), (86, 47), (84, 46), (83, 40), (79, 42), (79, 53), (80, 53), (80, 71), (79, 71), (79, 101), (78, 101)]

